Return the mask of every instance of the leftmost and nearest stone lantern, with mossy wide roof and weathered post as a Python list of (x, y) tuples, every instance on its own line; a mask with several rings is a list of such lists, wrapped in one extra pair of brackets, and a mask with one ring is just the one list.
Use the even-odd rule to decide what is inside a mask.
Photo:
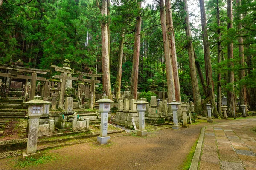
[(33, 100), (25, 102), (29, 105), (28, 116), (29, 116), (29, 132), (26, 153), (23, 153), (23, 160), (25, 157), (36, 157), (40, 152), (37, 152), (38, 142), (38, 126), (39, 118), (43, 115), (44, 105), (50, 105), (51, 102), (41, 100), (40, 96), (34, 96)]

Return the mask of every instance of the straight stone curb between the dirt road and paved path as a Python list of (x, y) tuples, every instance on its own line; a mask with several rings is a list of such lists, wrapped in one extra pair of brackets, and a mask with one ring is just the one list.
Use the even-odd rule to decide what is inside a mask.
[(198, 144), (196, 146), (195, 153), (194, 153), (189, 170), (197, 170), (198, 169), (198, 163), (199, 163), (202, 144), (203, 144), (203, 140), (204, 140), (204, 131), (205, 131), (205, 126), (202, 127), (202, 130), (201, 130), (201, 133), (200, 133), (200, 136), (198, 139)]

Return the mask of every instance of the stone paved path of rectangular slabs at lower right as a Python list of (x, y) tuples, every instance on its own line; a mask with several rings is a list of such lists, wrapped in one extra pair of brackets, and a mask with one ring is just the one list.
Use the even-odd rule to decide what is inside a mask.
[(200, 170), (256, 170), (256, 118), (205, 129)]

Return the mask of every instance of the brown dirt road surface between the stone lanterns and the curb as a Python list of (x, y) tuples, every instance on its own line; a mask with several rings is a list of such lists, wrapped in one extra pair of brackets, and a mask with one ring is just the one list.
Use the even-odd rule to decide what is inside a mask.
[[(216, 120), (225, 122), (228, 120)], [(20, 157), (0, 160), (0, 170), (180, 170), (206, 120), (182, 130), (148, 132), (147, 137), (126, 135), (110, 143), (96, 141), (44, 150), (41, 163), (21, 168)], [(48, 159), (48, 160), (44, 160)], [(16, 166), (16, 167), (15, 167)]]

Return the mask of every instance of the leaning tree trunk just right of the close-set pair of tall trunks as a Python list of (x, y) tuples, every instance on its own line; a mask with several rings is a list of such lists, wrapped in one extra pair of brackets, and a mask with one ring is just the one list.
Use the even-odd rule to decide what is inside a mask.
[(201, 114), (202, 113), (201, 96), (200, 96), (200, 91), (198, 87), (198, 79), (196, 75), (194, 48), (191, 40), (191, 28), (189, 23), (189, 9), (188, 9), (187, 0), (183, 0), (183, 3), (184, 3), (183, 8), (186, 11), (185, 30), (186, 30), (186, 39), (188, 42), (187, 47), (188, 47), (188, 54), (189, 54), (189, 68), (190, 68), (190, 77), (192, 82), (195, 113)]

